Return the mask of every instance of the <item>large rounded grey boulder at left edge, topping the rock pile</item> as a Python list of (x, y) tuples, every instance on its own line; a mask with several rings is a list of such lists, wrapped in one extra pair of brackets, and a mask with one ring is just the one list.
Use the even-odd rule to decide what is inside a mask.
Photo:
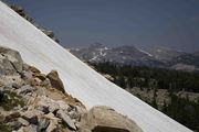
[(6, 75), (13, 75), (21, 73), (23, 67), (23, 61), (19, 52), (0, 47), (0, 73)]

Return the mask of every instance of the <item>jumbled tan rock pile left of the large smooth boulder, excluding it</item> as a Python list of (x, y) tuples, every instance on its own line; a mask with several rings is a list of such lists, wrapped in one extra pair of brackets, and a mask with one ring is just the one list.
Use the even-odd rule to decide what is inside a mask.
[(57, 72), (46, 76), (7, 47), (0, 47), (0, 131), (77, 131), (86, 110), (64, 94)]

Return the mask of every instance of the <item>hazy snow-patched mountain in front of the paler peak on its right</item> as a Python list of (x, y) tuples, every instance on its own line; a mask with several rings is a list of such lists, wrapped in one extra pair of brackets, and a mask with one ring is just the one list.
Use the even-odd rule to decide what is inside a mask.
[(91, 63), (113, 62), (134, 66), (164, 66), (164, 63), (156, 61), (151, 54), (134, 46), (107, 48), (103, 44), (95, 43), (87, 48), (71, 48), (70, 52), (82, 61)]

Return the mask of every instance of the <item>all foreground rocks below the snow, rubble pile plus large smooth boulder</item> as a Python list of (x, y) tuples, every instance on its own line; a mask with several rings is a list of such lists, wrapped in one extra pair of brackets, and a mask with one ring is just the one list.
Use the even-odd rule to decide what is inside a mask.
[(24, 64), (17, 51), (0, 47), (0, 131), (142, 132), (142, 129), (108, 107), (87, 111), (80, 100), (65, 92), (56, 70), (44, 75)]

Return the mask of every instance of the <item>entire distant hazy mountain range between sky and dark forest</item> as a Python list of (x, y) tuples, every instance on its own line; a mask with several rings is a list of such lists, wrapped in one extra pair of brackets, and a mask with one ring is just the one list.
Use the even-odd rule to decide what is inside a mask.
[(199, 67), (198, 52), (186, 53), (165, 47), (140, 50), (127, 45), (111, 48), (101, 43), (94, 43), (86, 48), (70, 48), (70, 52), (78, 58), (91, 63), (112, 62), (122, 65), (184, 70), (198, 70)]

